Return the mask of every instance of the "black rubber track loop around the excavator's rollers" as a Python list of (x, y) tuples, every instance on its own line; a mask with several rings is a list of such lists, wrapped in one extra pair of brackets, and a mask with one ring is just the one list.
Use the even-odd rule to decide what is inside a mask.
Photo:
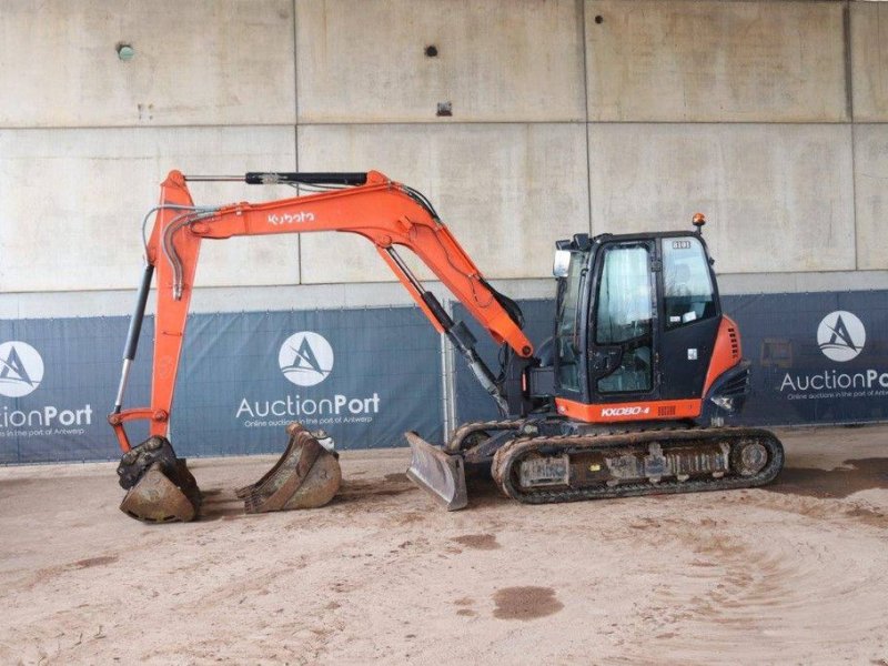
[[(675, 478), (663, 480), (657, 484), (648, 481), (636, 483), (622, 483), (616, 486), (596, 485), (579, 488), (537, 488), (524, 491), (513, 483), (513, 471), (527, 455), (545, 448), (546, 455), (563, 452), (576, 453), (582, 450), (603, 448), (637, 448), (650, 442), (659, 442), (664, 454), (669, 452), (674, 444), (687, 445), (692, 441), (699, 441), (703, 445), (726, 438), (731, 440), (731, 445), (740, 440), (757, 440), (768, 452), (768, 463), (753, 476), (723, 476), (722, 478), (696, 478), (678, 482)], [(733, 446), (731, 446), (733, 448)], [(748, 488), (765, 485), (774, 480), (784, 465), (784, 448), (774, 433), (758, 428), (719, 427), (719, 428), (686, 428), (662, 431), (635, 431), (618, 434), (603, 435), (564, 435), (547, 437), (521, 437), (514, 440), (496, 452), (493, 461), (493, 477), (503, 492), (525, 504), (553, 504), (558, 502), (579, 502), (582, 500), (598, 500), (607, 497), (635, 497), (639, 495), (660, 495), (677, 493), (696, 493), (702, 491), (727, 491)]]

